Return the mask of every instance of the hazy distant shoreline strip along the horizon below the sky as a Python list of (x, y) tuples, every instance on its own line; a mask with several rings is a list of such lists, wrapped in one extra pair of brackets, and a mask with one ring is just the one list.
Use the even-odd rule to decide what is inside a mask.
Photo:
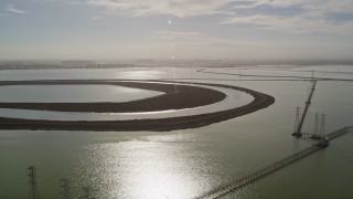
[[(63, 64), (64, 62), (64, 64)], [(351, 59), (331, 60), (151, 60), (141, 62), (140, 60), (116, 60), (116, 61), (71, 61), (65, 64), (62, 60), (0, 60), (0, 71), (11, 70), (111, 70), (111, 69), (132, 69), (132, 67), (244, 67), (244, 66), (279, 66), (279, 67), (304, 67), (318, 65), (353, 65)], [(90, 63), (89, 63), (90, 62)]]

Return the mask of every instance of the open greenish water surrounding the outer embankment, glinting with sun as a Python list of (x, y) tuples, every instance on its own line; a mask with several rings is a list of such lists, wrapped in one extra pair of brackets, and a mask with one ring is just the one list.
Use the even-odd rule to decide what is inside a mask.
[[(302, 67), (275, 73), (274, 69), (248, 70), (248, 73), (311, 75), (301, 72)], [(351, 70), (347, 66), (314, 69)], [(212, 71), (238, 72), (232, 69)], [(242, 73), (247, 72), (243, 70)], [(58, 180), (62, 178), (72, 181), (76, 197), (82, 195), (83, 187), (90, 187), (98, 198), (192, 198), (310, 145), (290, 136), (295, 107), (302, 106), (307, 97), (309, 82), (306, 81), (246, 81), (252, 77), (172, 67), (0, 73), (1, 80), (44, 77), (202, 78), (193, 81), (253, 88), (272, 95), (276, 103), (223, 123), (167, 133), (1, 130), (1, 198), (26, 198), (25, 168), (29, 165), (38, 168), (42, 198), (61, 198)], [(328, 133), (352, 125), (352, 82), (319, 82), (304, 130), (312, 130), (315, 112), (327, 114)], [(325, 150), (225, 198), (352, 198), (352, 142), (353, 134), (346, 134), (333, 140)]]

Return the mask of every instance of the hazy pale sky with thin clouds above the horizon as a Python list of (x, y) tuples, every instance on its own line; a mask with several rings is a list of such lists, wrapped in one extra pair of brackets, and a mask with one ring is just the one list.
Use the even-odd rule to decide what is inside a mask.
[(353, 0), (1, 0), (0, 59), (352, 59)]

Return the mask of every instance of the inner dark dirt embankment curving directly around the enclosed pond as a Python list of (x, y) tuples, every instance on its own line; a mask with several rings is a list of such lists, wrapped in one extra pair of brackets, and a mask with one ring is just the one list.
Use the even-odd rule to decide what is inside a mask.
[(163, 92), (164, 94), (139, 101), (114, 103), (0, 103), (0, 108), (56, 111), (56, 112), (82, 112), (82, 113), (133, 113), (157, 112), (165, 109), (183, 109), (205, 106), (223, 101), (226, 95), (222, 92), (206, 87), (161, 84), (148, 82), (101, 82), (101, 81), (25, 81), (25, 82), (0, 83), (4, 85), (89, 85), (105, 84), (141, 90)]

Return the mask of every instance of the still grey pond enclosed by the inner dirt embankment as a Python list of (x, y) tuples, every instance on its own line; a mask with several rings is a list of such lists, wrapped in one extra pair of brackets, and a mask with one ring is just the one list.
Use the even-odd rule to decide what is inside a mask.
[(116, 85), (8, 85), (0, 93), (1, 103), (129, 102), (163, 94)]

